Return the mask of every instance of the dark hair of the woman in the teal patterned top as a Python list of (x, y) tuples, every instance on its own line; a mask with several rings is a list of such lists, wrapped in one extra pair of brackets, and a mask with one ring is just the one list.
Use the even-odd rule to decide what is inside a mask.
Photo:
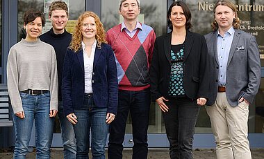
[(170, 6), (169, 10), (167, 10), (167, 25), (169, 26), (169, 28), (171, 30), (173, 29), (172, 21), (170, 20), (170, 14), (172, 13), (172, 7), (174, 6), (181, 6), (181, 8), (183, 8), (183, 13), (186, 18), (186, 24), (185, 24), (186, 30), (192, 28), (192, 24), (190, 23), (190, 20), (192, 19), (192, 15), (190, 14), (190, 9), (183, 1), (174, 1)]

